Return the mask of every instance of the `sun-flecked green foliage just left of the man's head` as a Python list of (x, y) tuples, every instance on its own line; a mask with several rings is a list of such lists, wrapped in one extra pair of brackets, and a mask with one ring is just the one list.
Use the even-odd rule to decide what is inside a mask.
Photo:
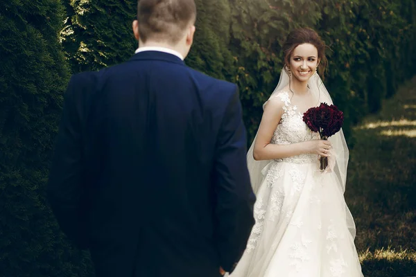
[(128, 60), (137, 42), (132, 33), (136, 0), (65, 0), (62, 45), (73, 73), (96, 71)]

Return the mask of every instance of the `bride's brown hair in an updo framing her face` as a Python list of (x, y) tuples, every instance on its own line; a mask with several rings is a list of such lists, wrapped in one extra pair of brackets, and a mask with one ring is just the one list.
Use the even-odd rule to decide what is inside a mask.
[(298, 28), (291, 33), (289, 33), (288, 37), (286, 37), (286, 42), (284, 42), (282, 50), (284, 53), (284, 62), (285, 64), (290, 64), (290, 59), (293, 54), (293, 51), (297, 46), (300, 44), (312, 44), (318, 49), (318, 73), (320, 74), (322, 80), (324, 79), (324, 73), (327, 70), (327, 56), (325, 56), (325, 43), (311, 28)]

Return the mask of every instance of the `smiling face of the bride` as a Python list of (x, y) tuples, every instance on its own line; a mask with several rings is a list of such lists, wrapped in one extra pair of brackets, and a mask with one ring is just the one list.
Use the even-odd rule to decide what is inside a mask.
[(307, 82), (318, 66), (318, 49), (313, 44), (300, 44), (293, 50), (290, 66), (295, 80)]

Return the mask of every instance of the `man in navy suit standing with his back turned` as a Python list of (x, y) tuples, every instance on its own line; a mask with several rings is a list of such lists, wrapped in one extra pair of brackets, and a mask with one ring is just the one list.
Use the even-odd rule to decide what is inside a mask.
[(239, 93), (184, 64), (195, 20), (193, 0), (140, 0), (136, 54), (69, 82), (48, 197), (98, 277), (220, 276), (245, 249)]

